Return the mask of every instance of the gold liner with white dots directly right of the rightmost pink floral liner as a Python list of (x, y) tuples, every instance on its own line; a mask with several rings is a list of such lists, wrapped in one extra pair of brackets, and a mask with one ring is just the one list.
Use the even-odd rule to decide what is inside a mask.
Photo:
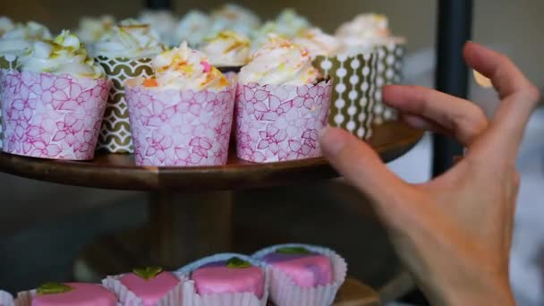
[(313, 63), (333, 80), (329, 124), (361, 140), (369, 140), (372, 135), (376, 59), (372, 53), (318, 56)]

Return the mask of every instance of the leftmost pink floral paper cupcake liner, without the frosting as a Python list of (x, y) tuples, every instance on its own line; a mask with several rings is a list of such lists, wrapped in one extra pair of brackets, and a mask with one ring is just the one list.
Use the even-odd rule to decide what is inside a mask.
[(10, 71), (1, 82), (4, 152), (50, 159), (94, 157), (109, 89), (105, 79)]

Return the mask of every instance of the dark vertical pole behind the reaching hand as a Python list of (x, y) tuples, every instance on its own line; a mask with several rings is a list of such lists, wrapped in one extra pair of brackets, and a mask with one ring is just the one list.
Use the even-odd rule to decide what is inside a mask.
[[(438, 90), (459, 98), (468, 95), (468, 68), (463, 61), (463, 45), (472, 37), (472, 0), (438, 1), (437, 72)], [(446, 136), (433, 136), (433, 175), (453, 166), (463, 147)]]

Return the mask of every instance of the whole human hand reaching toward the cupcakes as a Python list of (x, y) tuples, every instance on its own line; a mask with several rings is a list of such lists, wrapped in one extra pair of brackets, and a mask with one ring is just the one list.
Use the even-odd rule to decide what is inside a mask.
[(506, 56), (474, 43), (463, 53), (501, 98), (489, 122), (480, 107), (436, 90), (384, 89), (384, 100), (406, 123), (445, 132), (467, 148), (446, 174), (405, 183), (348, 132), (327, 128), (320, 142), (331, 165), (369, 196), (397, 254), (433, 304), (514, 304), (508, 259), (519, 189), (515, 158), (540, 94)]

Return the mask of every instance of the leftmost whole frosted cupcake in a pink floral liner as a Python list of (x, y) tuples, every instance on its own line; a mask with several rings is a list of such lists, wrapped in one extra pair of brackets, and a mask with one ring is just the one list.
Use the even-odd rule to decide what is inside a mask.
[(2, 78), (4, 152), (27, 157), (94, 157), (108, 82), (70, 31), (35, 42), (19, 71)]

